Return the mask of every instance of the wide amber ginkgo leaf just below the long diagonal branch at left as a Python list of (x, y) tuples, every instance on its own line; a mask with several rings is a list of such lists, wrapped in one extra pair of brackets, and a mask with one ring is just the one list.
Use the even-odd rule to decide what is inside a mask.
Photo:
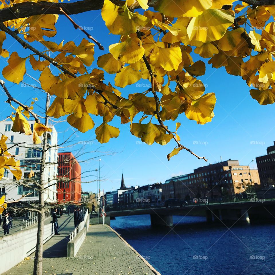
[(63, 75), (61, 82), (53, 84), (50, 92), (63, 99), (76, 99), (83, 97), (90, 80), (89, 74), (80, 75), (78, 77), (68, 77)]

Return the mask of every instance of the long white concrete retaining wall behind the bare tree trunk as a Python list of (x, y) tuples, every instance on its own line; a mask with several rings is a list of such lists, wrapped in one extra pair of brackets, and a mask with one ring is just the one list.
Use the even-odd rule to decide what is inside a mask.
[[(10, 230), (12, 232), (12, 229)], [(43, 243), (54, 235), (53, 223), (45, 221)], [(17, 265), (36, 250), (37, 227), (0, 237), (0, 274)]]

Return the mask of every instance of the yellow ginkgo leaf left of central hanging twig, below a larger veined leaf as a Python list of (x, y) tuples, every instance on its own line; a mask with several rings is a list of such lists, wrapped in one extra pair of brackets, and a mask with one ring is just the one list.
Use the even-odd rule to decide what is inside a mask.
[(115, 86), (124, 88), (131, 85), (142, 77), (142, 72), (133, 70), (130, 66), (123, 67), (115, 76)]

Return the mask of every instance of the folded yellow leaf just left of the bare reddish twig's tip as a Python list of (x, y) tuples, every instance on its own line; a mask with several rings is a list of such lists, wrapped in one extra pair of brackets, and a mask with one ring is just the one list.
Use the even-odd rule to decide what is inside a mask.
[(74, 49), (72, 54), (76, 55), (86, 66), (91, 66), (94, 58), (94, 43), (89, 42), (83, 38), (77, 48)]

